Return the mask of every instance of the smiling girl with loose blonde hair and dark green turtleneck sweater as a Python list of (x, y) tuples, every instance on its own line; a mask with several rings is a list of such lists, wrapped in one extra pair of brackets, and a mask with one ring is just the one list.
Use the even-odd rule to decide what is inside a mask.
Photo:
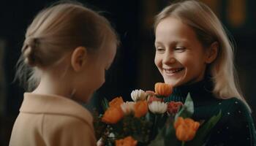
[(222, 23), (206, 4), (180, 1), (155, 20), (155, 59), (165, 83), (173, 85), (166, 101), (194, 101), (194, 120), (222, 112), (206, 145), (256, 145), (249, 105), (236, 83), (233, 45)]

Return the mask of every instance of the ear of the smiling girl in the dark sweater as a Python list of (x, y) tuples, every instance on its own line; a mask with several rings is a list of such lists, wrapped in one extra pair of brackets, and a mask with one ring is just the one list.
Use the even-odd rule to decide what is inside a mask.
[(219, 50), (219, 43), (213, 42), (206, 52), (206, 64), (211, 64), (216, 58)]

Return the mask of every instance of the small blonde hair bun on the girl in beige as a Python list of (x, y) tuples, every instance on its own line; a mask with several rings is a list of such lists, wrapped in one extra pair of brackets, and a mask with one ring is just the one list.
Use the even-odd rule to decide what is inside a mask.
[(37, 50), (38, 39), (34, 37), (27, 37), (23, 44), (21, 52), (23, 53), (24, 62), (29, 66), (36, 66), (37, 59), (35, 51)]

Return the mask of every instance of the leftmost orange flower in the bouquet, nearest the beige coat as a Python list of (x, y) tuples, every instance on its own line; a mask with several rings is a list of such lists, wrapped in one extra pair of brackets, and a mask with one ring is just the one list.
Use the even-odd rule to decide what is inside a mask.
[(117, 123), (123, 117), (124, 113), (121, 107), (109, 107), (108, 110), (105, 111), (102, 121), (105, 123)]

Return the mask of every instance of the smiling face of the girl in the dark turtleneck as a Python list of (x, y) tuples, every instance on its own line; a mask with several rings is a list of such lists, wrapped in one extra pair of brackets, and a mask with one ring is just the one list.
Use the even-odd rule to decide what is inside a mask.
[(203, 80), (207, 53), (195, 31), (178, 18), (168, 17), (156, 28), (154, 62), (165, 83), (178, 86)]

